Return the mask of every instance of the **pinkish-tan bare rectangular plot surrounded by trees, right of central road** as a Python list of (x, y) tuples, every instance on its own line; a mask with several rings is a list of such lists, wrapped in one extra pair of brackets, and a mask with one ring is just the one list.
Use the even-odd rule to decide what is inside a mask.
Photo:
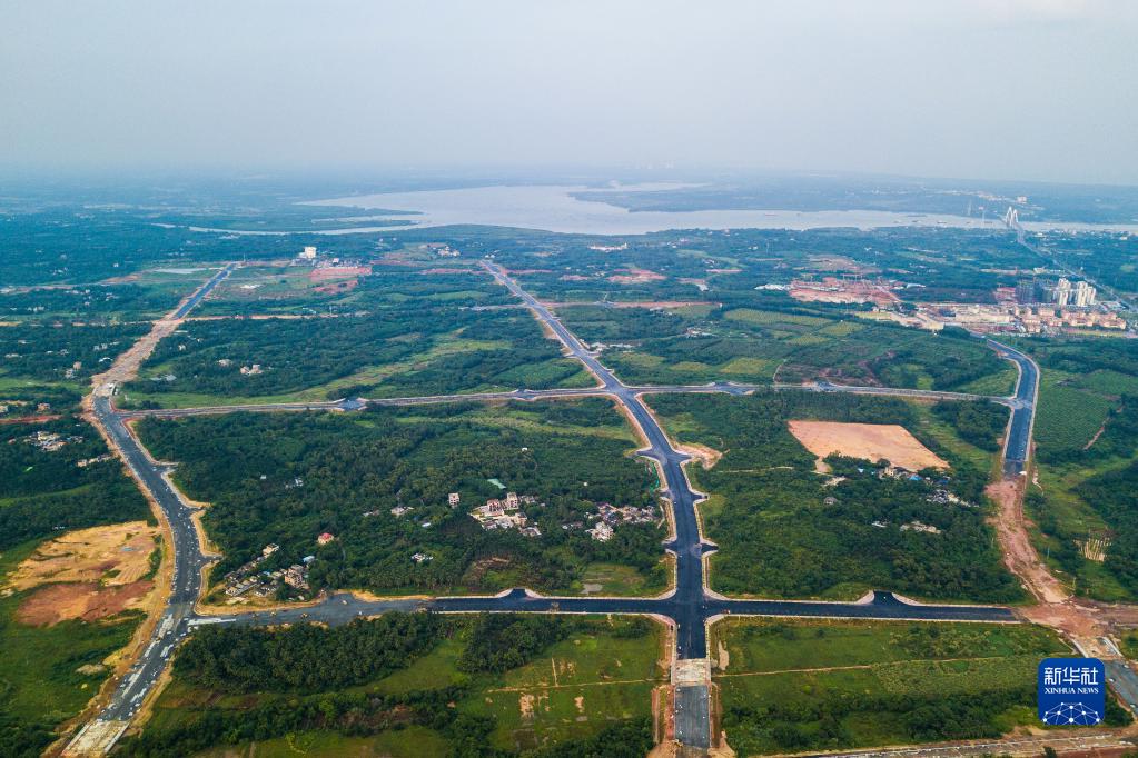
[(887, 459), (912, 472), (948, 464), (897, 424), (841, 424), (836, 422), (790, 422), (790, 433), (818, 459), (832, 452), (866, 460)]

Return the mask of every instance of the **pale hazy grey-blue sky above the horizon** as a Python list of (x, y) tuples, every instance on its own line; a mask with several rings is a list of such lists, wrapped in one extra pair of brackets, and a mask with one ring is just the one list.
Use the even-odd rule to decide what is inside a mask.
[(0, 166), (1138, 184), (1129, 0), (0, 0)]

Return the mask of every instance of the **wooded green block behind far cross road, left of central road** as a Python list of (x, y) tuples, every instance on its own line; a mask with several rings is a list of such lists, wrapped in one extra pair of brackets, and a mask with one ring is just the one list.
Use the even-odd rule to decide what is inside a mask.
[(191, 322), (159, 343), (143, 377), (124, 388), (124, 401), (190, 393), (224, 402), (330, 382), (337, 384), (319, 399), (545, 389), (580, 373), (528, 314), (415, 307), (337, 318)]

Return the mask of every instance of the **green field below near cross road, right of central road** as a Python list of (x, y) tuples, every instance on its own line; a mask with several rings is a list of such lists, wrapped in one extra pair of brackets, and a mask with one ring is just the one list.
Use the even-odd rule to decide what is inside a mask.
[(1037, 626), (852, 620), (727, 619), (711, 645), (740, 755), (997, 738), (1036, 723), (1039, 660), (1071, 653)]

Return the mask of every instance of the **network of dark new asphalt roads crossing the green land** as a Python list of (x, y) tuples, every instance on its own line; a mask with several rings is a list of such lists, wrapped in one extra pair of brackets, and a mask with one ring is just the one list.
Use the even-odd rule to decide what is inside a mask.
[[(769, 385), (721, 382), (708, 385), (625, 385), (600, 363), (596, 355), (584, 347), (549, 308), (522, 290), (504, 269), (490, 263), (483, 265), (498, 283), (508, 288), (533, 311), (535, 317), (552, 332), (572, 357), (588, 368), (597, 378), (597, 386), (571, 390), (517, 390), (464, 395), (258, 403), (162, 410), (117, 410), (113, 405), (113, 388), (97, 389), (92, 402), (94, 419), (117, 448), (139, 484), (152, 498), (163, 519), (170, 526), (173, 538), (173, 586), (150, 642), (134, 666), (117, 683), (109, 703), (73, 741), (72, 747), (68, 748), (73, 755), (97, 753), (109, 749), (131, 719), (138, 715), (147, 695), (155, 691), (160, 674), (172, 659), (178, 644), (195, 628), (209, 624), (275, 625), (304, 622), (343, 624), (354, 618), (376, 616), (390, 610), (419, 609), (439, 613), (517, 611), (651, 615), (669, 624), (674, 630), (674, 739), (683, 745), (704, 750), (714, 742), (707, 631), (709, 624), (718, 618), (724, 616), (786, 616), (996, 623), (1020, 620), (1009, 609), (1003, 607), (924, 605), (901, 599), (890, 592), (868, 593), (857, 602), (729, 599), (711, 592), (706, 581), (704, 557), (714, 552), (716, 545), (706, 540), (701, 533), (695, 506), (703, 495), (692, 490), (684, 472), (684, 464), (690, 460), (690, 457), (671, 445), (659, 423), (643, 403), (641, 395), (665, 392), (725, 392), (739, 395), (759, 389), (770, 389)], [(220, 278), (221, 276), (214, 277), (203, 285), (178, 309), (174, 317), (184, 318)], [(1020, 380), (1015, 394), (1012, 398), (991, 398), (991, 400), (1008, 405), (1013, 410), (1005, 449), (1005, 474), (1019, 476), (1023, 472), (1030, 447), (1038, 368), (1025, 356), (1007, 345), (996, 342), (990, 342), (990, 345), (1020, 366)], [(775, 385), (774, 389), (894, 394), (930, 399), (982, 399), (980, 395), (960, 393), (888, 388), (847, 388), (828, 383)], [(655, 461), (660, 467), (663, 485), (662, 495), (670, 505), (674, 527), (673, 535), (666, 542), (665, 549), (675, 557), (676, 565), (675, 588), (663, 595), (655, 598), (543, 597), (529, 590), (514, 589), (493, 597), (362, 600), (351, 593), (336, 593), (315, 606), (305, 608), (229, 615), (200, 614), (196, 608), (196, 602), (201, 597), (204, 569), (213, 560), (213, 557), (205, 552), (201, 532), (195, 523), (197, 507), (187, 501), (173, 486), (168, 478), (170, 467), (152, 460), (127, 425), (129, 420), (145, 416), (174, 418), (233, 411), (352, 411), (369, 405), (413, 406), (489, 400), (536, 401), (545, 398), (585, 395), (604, 395), (617, 402), (648, 442), (648, 445), (640, 450), (640, 455)], [(76, 745), (90, 744), (96, 744), (97, 749), (88, 751), (76, 748)]]

